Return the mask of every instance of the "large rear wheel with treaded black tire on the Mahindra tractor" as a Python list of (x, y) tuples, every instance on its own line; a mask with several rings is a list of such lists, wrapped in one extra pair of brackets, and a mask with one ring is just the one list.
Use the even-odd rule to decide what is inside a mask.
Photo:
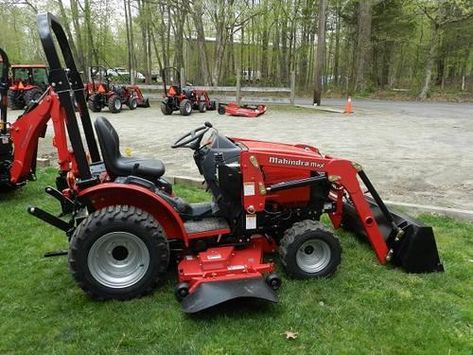
[(147, 212), (117, 205), (89, 215), (75, 230), (69, 267), (97, 300), (128, 300), (153, 291), (169, 265), (163, 228)]

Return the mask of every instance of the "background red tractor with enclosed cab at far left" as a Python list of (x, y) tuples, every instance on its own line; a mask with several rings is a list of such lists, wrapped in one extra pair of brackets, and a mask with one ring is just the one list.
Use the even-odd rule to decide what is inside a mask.
[(8, 102), (12, 110), (21, 110), (38, 100), (48, 86), (48, 69), (42, 64), (12, 65)]

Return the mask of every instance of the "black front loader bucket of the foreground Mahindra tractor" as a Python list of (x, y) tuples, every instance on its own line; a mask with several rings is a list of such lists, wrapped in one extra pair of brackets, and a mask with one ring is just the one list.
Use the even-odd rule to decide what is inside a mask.
[[(411, 273), (427, 273), (444, 271), (440, 262), (437, 245), (432, 227), (411, 217), (389, 209), (392, 220), (403, 231), (400, 238), (392, 224), (387, 221), (375, 200), (365, 196), (373, 216), (389, 249), (392, 250), (391, 262)], [(365, 235), (353, 205), (344, 204), (342, 227), (358, 235)]]

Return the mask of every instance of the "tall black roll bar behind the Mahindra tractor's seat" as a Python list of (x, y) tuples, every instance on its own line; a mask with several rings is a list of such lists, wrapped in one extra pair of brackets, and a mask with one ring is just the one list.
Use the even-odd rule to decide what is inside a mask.
[[(41, 13), (36, 17), (39, 37), (43, 45), (44, 53), (49, 64), (49, 84), (59, 97), (62, 108), (66, 114), (66, 126), (72, 149), (77, 161), (79, 170), (79, 179), (83, 182), (91, 180), (89, 164), (87, 161), (84, 145), (80, 136), (80, 130), (77, 123), (75, 105), (77, 105), (82, 128), (84, 131), (87, 147), (92, 162), (100, 161), (100, 154), (95, 140), (92, 122), (84, 94), (84, 84), (77, 70), (71, 47), (67, 40), (64, 29), (51, 13)], [(65, 68), (61, 64), (53, 34), (61, 49), (62, 59)], [(72, 40), (72, 39), (71, 39)]]

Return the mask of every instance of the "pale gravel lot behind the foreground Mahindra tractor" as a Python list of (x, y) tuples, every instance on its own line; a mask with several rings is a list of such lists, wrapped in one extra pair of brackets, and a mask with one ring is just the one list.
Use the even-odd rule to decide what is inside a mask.
[[(343, 107), (340, 100), (324, 102)], [(350, 116), (287, 106), (270, 107), (255, 119), (215, 111), (164, 116), (158, 102), (148, 109), (92, 115), (110, 119), (122, 151), (161, 159), (168, 175), (199, 176), (192, 152), (170, 145), (208, 120), (228, 136), (306, 143), (354, 160), (387, 200), (473, 210), (473, 105), (374, 100), (353, 105)], [(49, 129), (40, 155), (54, 152), (51, 135)]]

